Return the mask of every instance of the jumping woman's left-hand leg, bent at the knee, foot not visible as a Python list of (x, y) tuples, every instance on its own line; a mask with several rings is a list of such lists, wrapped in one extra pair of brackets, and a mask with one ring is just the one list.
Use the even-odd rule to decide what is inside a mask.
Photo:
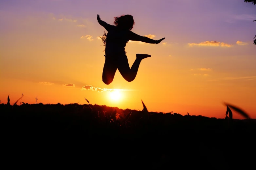
[(113, 58), (106, 57), (102, 72), (102, 81), (107, 85), (110, 84), (115, 77), (116, 71), (116, 61)]

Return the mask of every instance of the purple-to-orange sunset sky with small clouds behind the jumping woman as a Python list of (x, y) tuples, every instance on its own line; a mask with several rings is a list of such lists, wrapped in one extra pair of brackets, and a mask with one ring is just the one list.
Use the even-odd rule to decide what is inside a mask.
[[(101, 20), (133, 15), (132, 31), (160, 44), (128, 42), (150, 54), (137, 77), (102, 82)], [(0, 100), (90, 104), (225, 118), (227, 102), (256, 119), (256, 5), (244, 0), (0, 1)], [(118, 91), (119, 100), (113, 92)], [(114, 96), (115, 98), (115, 96)], [(233, 114), (234, 119), (243, 119)]]

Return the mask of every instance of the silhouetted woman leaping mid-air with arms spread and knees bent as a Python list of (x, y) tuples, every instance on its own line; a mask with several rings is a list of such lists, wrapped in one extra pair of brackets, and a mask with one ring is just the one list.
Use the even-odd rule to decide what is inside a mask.
[(115, 17), (114, 25), (110, 25), (100, 19), (99, 14), (97, 20), (101, 26), (107, 30), (107, 35), (102, 36), (105, 46), (105, 64), (103, 67), (102, 81), (105, 84), (110, 84), (115, 76), (117, 69), (122, 77), (131, 82), (135, 79), (139, 64), (142, 59), (151, 57), (148, 54), (136, 54), (136, 60), (130, 68), (124, 47), (129, 40), (141, 41), (150, 44), (158, 44), (165, 38), (153, 40), (146, 36), (140, 36), (133, 33), (131, 30), (135, 24), (133, 16), (122, 15)]

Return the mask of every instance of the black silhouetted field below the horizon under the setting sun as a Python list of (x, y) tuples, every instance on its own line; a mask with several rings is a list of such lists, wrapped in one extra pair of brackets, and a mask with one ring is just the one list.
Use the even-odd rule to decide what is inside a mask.
[(78, 104), (1, 104), (0, 112), (9, 167), (255, 169), (252, 119)]

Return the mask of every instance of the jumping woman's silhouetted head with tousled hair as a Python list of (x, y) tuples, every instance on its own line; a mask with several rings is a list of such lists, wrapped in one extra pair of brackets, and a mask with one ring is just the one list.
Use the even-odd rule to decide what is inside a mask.
[(133, 16), (131, 15), (121, 15), (119, 17), (114, 17), (114, 25), (118, 26), (120, 29), (129, 30), (131, 31), (133, 25), (135, 24), (133, 20)]

